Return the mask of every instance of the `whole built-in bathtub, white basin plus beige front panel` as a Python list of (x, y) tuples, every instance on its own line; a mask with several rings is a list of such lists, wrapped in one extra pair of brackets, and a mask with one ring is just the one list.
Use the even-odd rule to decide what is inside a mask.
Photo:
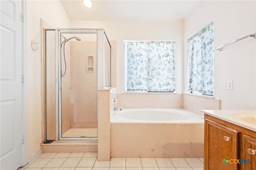
[(204, 119), (185, 109), (122, 109), (110, 120), (112, 158), (204, 156)]

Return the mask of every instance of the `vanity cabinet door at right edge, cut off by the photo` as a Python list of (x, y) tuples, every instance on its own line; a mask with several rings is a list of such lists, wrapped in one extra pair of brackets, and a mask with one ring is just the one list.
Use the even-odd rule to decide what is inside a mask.
[(256, 170), (256, 138), (243, 135), (241, 159), (243, 160), (240, 164), (241, 170)]

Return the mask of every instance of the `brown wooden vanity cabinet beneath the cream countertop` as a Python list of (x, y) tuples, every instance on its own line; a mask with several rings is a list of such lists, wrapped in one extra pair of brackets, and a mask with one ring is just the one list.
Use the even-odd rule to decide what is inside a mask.
[(256, 170), (256, 132), (205, 114), (204, 170)]

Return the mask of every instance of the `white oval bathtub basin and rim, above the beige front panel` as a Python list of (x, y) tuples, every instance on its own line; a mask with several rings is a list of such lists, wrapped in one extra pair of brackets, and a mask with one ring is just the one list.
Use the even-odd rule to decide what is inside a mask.
[(204, 117), (185, 109), (122, 109), (112, 112), (111, 123), (204, 123)]

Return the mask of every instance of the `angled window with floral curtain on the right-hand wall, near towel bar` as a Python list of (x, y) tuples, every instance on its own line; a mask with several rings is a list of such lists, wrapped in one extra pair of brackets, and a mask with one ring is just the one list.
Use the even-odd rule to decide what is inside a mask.
[(213, 23), (188, 41), (189, 91), (213, 95), (214, 29)]

